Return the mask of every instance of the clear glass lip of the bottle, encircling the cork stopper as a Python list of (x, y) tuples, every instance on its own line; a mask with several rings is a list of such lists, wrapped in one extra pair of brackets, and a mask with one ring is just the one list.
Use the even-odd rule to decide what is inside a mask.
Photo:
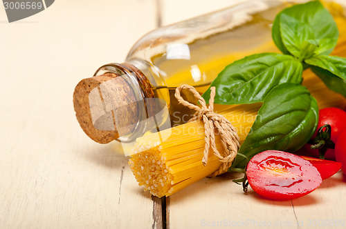
[[(114, 126), (119, 135), (117, 140), (124, 143), (134, 141), (151, 126), (151, 123), (148, 123), (148, 117), (155, 115), (152, 86), (143, 72), (129, 63), (109, 63), (100, 67), (94, 76), (109, 73), (124, 79), (128, 86), (128, 88), (121, 88), (121, 92), (116, 92), (116, 94), (122, 94), (119, 98), (122, 101), (115, 101), (118, 105), (111, 104)], [(109, 89), (112, 90), (111, 88), (115, 87)], [(112, 95), (109, 94), (109, 96)], [(120, 102), (122, 102), (121, 106), (119, 106)]]

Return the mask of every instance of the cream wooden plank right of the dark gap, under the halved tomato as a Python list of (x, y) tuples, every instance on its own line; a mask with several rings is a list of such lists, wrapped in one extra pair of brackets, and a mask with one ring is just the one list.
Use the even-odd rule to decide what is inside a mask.
[[(234, 175), (203, 179), (170, 197), (169, 228), (324, 228), (345, 226), (346, 184), (341, 172), (311, 194), (271, 201), (251, 187), (244, 193)], [(317, 223), (317, 226), (316, 226)]]

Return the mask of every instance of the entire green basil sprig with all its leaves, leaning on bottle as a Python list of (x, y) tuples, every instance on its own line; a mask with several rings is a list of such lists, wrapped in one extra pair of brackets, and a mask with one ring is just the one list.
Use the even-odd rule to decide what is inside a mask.
[[(297, 85), (303, 68), (311, 68), (329, 89), (346, 97), (346, 59), (329, 56), (338, 28), (320, 1), (282, 10), (273, 21), (272, 37), (283, 54), (253, 54), (235, 61), (211, 83), (216, 87), (215, 103), (264, 102), (261, 120), (255, 120), (233, 163), (240, 169), (245, 168), (244, 157), (269, 149), (293, 152), (315, 131), (316, 100)], [(203, 94), (206, 101), (209, 97), (210, 88)]]

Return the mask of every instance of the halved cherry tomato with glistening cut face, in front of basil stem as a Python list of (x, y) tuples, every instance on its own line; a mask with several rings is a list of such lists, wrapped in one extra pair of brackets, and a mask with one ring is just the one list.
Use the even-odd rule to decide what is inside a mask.
[(302, 197), (322, 182), (320, 172), (309, 161), (278, 150), (255, 155), (248, 162), (246, 175), (257, 194), (275, 200)]

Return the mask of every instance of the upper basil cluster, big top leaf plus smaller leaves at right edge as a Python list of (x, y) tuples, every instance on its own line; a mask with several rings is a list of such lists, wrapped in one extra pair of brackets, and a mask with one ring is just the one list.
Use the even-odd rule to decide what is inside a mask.
[(346, 59), (328, 55), (338, 41), (338, 28), (320, 1), (282, 10), (275, 17), (272, 37), (277, 48), (302, 61), (330, 90), (346, 97)]

